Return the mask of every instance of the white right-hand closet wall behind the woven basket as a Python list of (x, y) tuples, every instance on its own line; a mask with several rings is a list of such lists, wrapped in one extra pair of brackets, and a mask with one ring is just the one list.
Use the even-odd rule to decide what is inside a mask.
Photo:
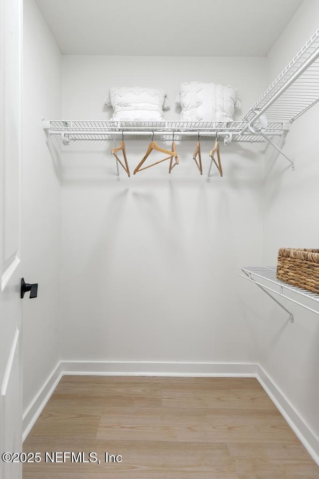
[[(318, 28), (319, 2), (305, 1), (268, 55), (273, 80)], [(319, 105), (300, 117), (284, 142), (296, 162), (277, 159), (268, 149), (265, 165), (263, 263), (276, 264), (279, 247), (318, 247)], [(261, 299), (265, 318), (261, 364), (314, 431), (311, 446), (319, 456), (319, 317), (288, 303), (288, 315), (271, 299)], [(264, 302), (265, 301), (265, 302)], [(317, 440), (316, 440), (317, 434)]]

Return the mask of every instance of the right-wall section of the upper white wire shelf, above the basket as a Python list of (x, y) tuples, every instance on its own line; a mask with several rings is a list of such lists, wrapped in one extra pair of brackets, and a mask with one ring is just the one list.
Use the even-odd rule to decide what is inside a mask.
[(293, 122), (319, 101), (319, 29), (252, 106), (243, 120)]

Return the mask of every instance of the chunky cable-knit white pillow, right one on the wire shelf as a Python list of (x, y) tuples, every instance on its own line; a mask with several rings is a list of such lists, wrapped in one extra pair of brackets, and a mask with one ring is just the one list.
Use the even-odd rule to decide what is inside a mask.
[(233, 121), (234, 110), (240, 107), (235, 88), (203, 81), (182, 83), (176, 103), (181, 106), (181, 121)]

